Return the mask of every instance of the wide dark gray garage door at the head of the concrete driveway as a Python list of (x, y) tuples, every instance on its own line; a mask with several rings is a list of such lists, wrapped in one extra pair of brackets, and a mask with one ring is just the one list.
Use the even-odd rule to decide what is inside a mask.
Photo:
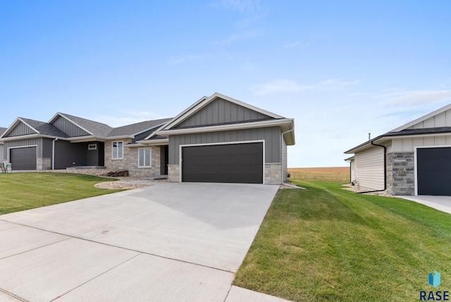
[(263, 143), (183, 147), (182, 181), (263, 183)]

